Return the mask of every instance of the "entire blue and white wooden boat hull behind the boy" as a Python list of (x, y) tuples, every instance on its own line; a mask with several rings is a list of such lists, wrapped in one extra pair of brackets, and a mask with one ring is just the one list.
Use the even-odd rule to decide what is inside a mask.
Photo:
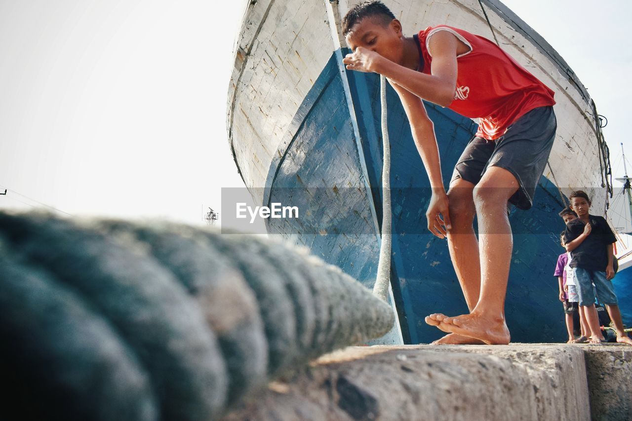
[[(492, 38), (478, 0), (385, 3), (402, 17), (409, 35), (447, 24)], [(593, 212), (604, 213), (600, 129), (592, 100), (556, 52), (502, 4), (483, 3), (501, 46), (556, 92), (557, 137), (540, 180), (542, 188), (532, 210), (510, 216), (514, 250), (506, 302), (514, 340), (555, 341), (564, 327), (557, 317), (557, 295), (549, 291), (555, 284), (546, 262), (554, 265), (561, 252), (556, 237), (563, 224), (557, 212), (565, 205), (565, 195), (577, 188), (588, 190)], [(341, 65), (335, 22), (346, 10), (342, 1), (328, 0), (251, 4), (236, 47), (227, 123), (234, 160), (255, 204), (269, 205), (276, 195), (299, 200), (301, 209), (307, 209), (297, 223), (268, 223), (269, 232), (307, 245), (371, 288), (380, 239), (380, 193), (370, 188), (379, 186), (381, 177), (375, 118), (379, 101), (374, 76), (348, 73)], [(438, 333), (423, 323), (424, 315), (433, 310), (463, 314), (467, 308), (445, 242), (437, 243), (440, 240), (425, 229), (427, 178), (401, 105), (392, 99), (392, 301), (405, 341), (419, 343), (436, 339)], [(441, 107), (428, 106), (428, 113), (447, 167), (447, 162), (456, 162), (475, 125)], [(574, 171), (576, 164), (588, 171)], [(451, 174), (451, 168), (442, 171)], [(295, 190), (288, 193), (288, 187)], [(317, 198), (312, 187), (322, 187)], [(533, 308), (540, 311), (533, 314)], [(553, 319), (559, 323), (550, 323)]]

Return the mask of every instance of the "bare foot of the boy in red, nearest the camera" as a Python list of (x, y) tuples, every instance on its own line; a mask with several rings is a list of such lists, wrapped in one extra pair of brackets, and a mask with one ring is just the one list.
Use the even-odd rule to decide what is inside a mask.
[[(430, 321), (428, 321), (430, 319)], [(434, 322), (438, 321), (438, 325)], [(443, 314), (432, 314), (426, 317), (426, 322), (437, 326), (444, 332), (456, 333), (461, 336), (480, 339), (487, 345), (507, 345), (510, 341), (509, 329), (504, 320), (483, 318), (480, 314), (463, 314), (456, 317), (446, 317)]]

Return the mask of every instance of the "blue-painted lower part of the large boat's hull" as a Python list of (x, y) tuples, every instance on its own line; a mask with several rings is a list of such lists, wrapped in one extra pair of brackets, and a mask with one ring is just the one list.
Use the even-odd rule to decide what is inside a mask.
[[(349, 113), (335, 54), (298, 109), (270, 164), (264, 204), (298, 205), (298, 219), (269, 219), (269, 233), (306, 245), (367, 287), (377, 272), (381, 221), (382, 141), (379, 78), (347, 72), (355, 115)], [(447, 243), (428, 233), (425, 210), (428, 179), (398, 96), (388, 87), (393, 219), (392, 289), (406, 343), (442, 336), (423, 322), (432, 312), (468, 311), (451, 264)], [(444, 185), (476, 131), (470, 119), (426, 104), (434, 122)], [(360, 143), (354, 135), (354, 121)], [(366, 180), (368, 178), (368, 180)], [(507, 288), (506, 316), (512, 341), (564, 339), (564, 314), (552, 276), (564, 228), (557, 212), (564, 205), (557, 187), (540, 180), (533, 208), (512, 210), (514, 250)]]

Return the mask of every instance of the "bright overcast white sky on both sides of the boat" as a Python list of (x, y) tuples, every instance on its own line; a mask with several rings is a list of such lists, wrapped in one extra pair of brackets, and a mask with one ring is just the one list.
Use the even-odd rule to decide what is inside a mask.
[[(322, 0), (318, 0), (322, 1)], [(506, 0), (586, 85), (623, 172), (632, 2)], [(201, 224), (241, 186), (226, 135), (245, 1), (0, 0), (0, 209)], [(632, 169), (632, 168), (631, 168)], [(19, 193), (19, 194), (18, 194)]]

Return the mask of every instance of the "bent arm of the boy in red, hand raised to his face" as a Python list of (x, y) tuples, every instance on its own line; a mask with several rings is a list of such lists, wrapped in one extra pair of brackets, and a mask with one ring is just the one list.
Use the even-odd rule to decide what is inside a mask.
[(458, 42), (458, 39), (447, 31), (439, 31), (432, 35), (428, 44), (428, 51), (432, 54), (432, 75), (400, 66), (363, 47), (357, 47), (343, 62), (349, 70), (379, 73), (408, 92), (447, 107), (454, 101), (456, 90)]

